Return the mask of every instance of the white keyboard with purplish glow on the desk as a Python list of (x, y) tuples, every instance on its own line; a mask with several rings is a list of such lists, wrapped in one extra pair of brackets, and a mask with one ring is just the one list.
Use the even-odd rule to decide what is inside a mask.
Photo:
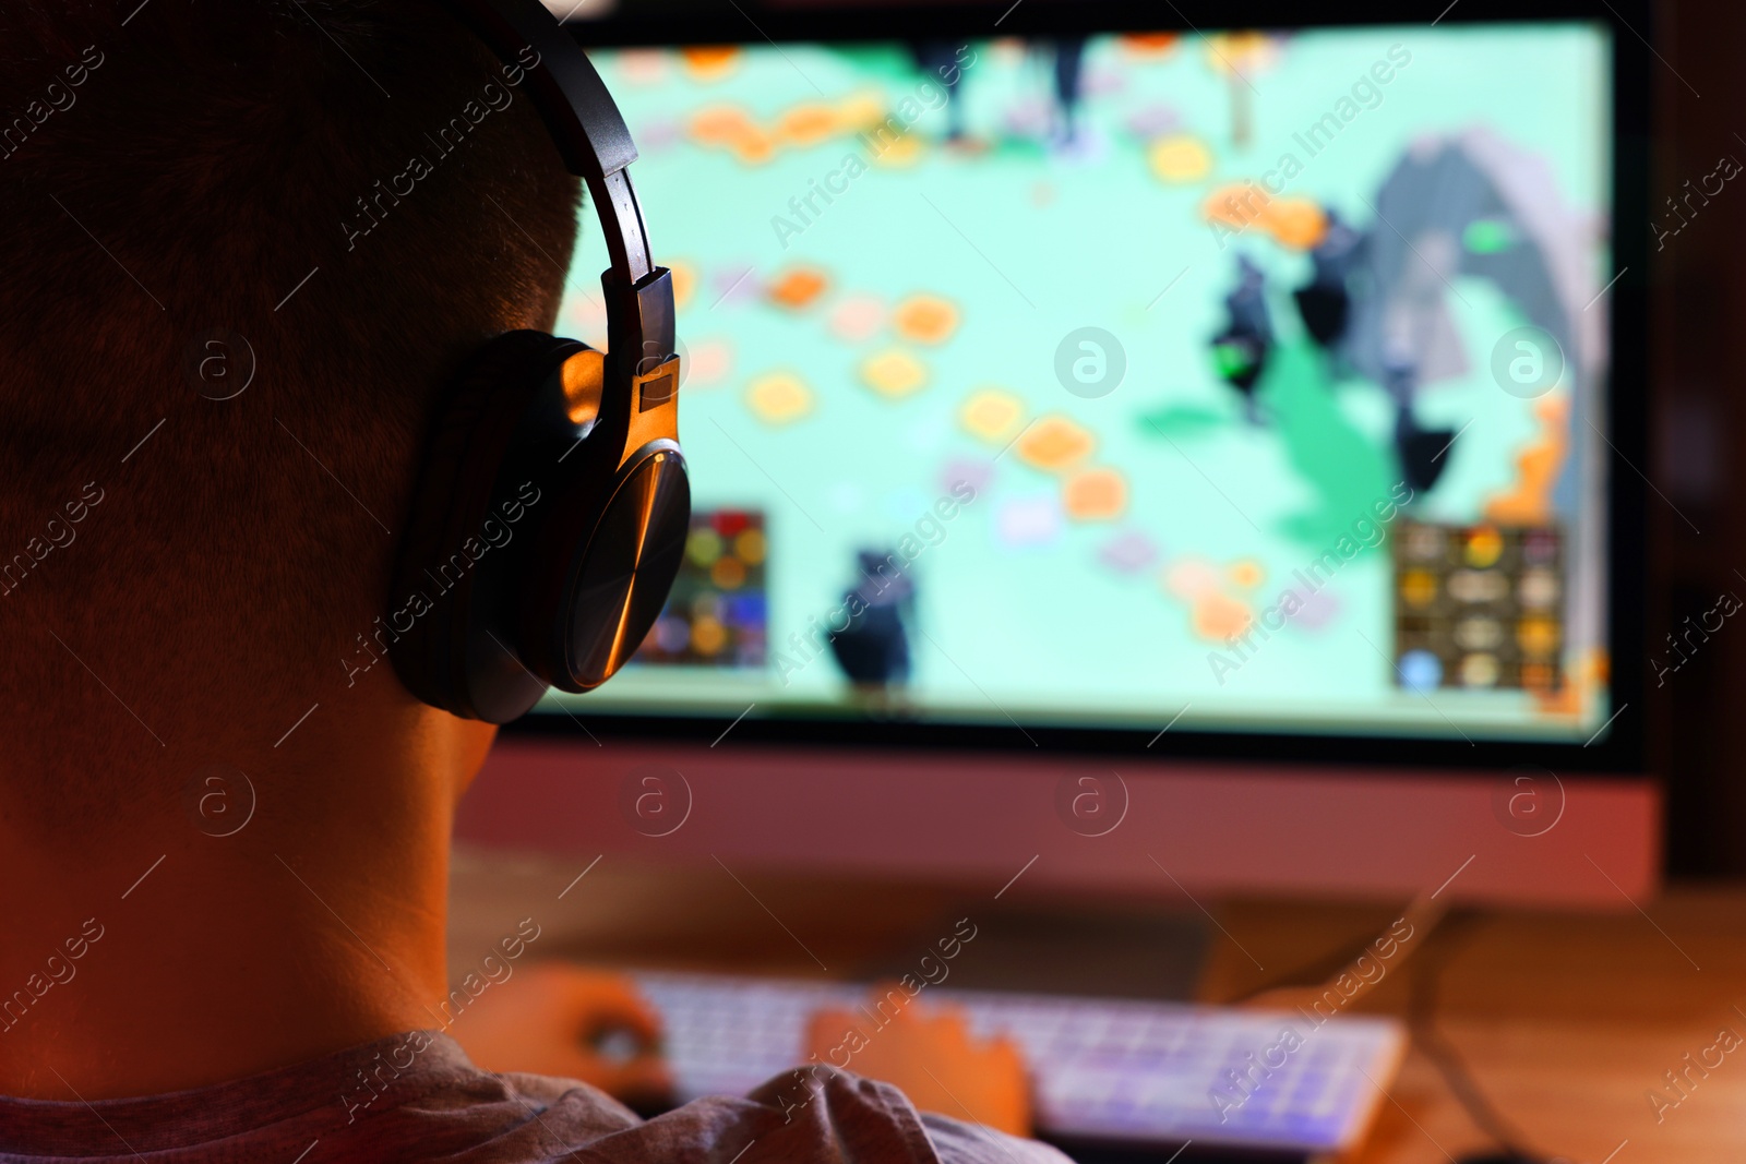
[[(866, 984), (634, 979), (662, 1016), (679, 1101), (746, 1094), (791, 1072), (807, 1061), (812, 1014), (871, 1002)], [(1007, 1037), (1032, 1073), (1037, 1134), (1063, 1143), (1344, 1152), (1362, 1141), (1406, 1051), (1402, 1026), (1381, 1017), (1316, 1026), (1299, 1012), (945, 986), (924, 986), (913, 1003), (955, 1007), (974, 1035)], [(875, 1028), (866, 1017), (871, 1038)]]

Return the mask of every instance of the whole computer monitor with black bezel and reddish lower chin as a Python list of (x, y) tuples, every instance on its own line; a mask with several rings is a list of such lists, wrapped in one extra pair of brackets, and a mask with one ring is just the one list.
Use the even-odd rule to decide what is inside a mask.
[[(695, 513), (636, 660), (508, 733), (463, 836), (1646, 892), (1643, 14), (1303, 17), (578, 24)], [(559, 330), (604, 346), (581, 222)]]

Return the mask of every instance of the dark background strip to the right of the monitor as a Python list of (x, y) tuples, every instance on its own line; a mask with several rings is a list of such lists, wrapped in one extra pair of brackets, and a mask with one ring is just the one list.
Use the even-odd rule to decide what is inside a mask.
[[(1713, 173), (1722, 155), (1746, 162), (1746, 9), (1723, 0), (1657, 3), (1653, 21), (1653, 31), (1643, 33), (1666, 66), (1657, 61), (1652, 70), (1650, 202), (1666, 211), (1666, 199), (1683, 192), (1687, 180)], [(1746, 188), (1737, 206), (1734, 194), (1730, 183), (1660, 251), (1650, 246), (1645, 473), (1666, 494), (1666, 503), (1648, 499), (1652, 654), (1720, 595), (1746, 599), (1746, 408), (1732, 347), (1746, 339), (1736, 323), (1746, 309)], [(1746, 782), (1739, 778), (1746, 625), (1729, 620), (1662, 686), (1650, 677), (1646, 691), (1652, 764), (1667, 782), (1669, 874), (1746, 874)]]

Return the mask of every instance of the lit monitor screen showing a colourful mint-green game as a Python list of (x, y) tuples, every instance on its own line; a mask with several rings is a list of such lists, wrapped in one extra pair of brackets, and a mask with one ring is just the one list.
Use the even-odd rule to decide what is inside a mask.
[[(1603, 24), (601, 49), (693, 525), (546, 710), (1580, 743)], [(590, 211), (559, 330), (604, 346)]]

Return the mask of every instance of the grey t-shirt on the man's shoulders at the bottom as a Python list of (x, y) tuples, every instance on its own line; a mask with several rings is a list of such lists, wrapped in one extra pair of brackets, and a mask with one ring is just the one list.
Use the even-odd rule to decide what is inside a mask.
[(1044, 1145), (938, 1115), (845, 1073), (779, 1077), (653, 1120), (566, 1078), (492, 1075), (436, 1031), (140, 1099), (0, 1098), (0, 1162), (152, 1164), (1063, 1164)]

